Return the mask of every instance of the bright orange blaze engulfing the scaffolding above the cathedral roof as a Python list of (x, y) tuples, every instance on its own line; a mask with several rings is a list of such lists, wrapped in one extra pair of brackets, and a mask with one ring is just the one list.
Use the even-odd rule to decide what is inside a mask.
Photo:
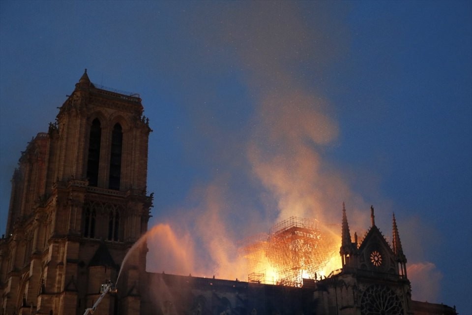
[[(265, 237), (244, 247), (249, 282), (301, 286), (302, 279), (317, 279), (341, 267), (339, 240), (313, 220), (290, 217)], [(329, 268), (329, 269), (328, 269)]]

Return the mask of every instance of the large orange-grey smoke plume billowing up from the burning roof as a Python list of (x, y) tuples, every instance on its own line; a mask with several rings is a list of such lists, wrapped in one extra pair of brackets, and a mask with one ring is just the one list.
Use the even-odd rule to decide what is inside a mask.
[[(200, 132), (191, 137), (204, 137), (211, 144), (202, 157), (220, 168), (195, 184), (183, 206), (153, 230), (149, 271), (246, 279), (248, 270), (238, 255), (241, 240), (290, 216), (337, 224), (333, 232), (340, 234), (343, 201), (352, 233), (362, 236), (359, 232), (369, 226), (370, 204), (324, 158), (342, 126), (333, 114), (334, 104), (316, 84), (327, 64), (349, 49), (349, 32), (342, 23), (333, 25), (336, 19), (329, 20), (324, 2), (310, 14), (302, 14), (298, 3), (225, 2), (217, 16), (209, 16), (210, 8), (207, 15), (201, 9), (191, 20), (188, 31), (196, 40), (209, 51), (229, 55), (234, 64), (218, 63), (239, 69), (241, 84), (256, 107), (241, 122), (243, 131), (235, 133), (211, 121), (221, 115), (217, 105), (188, 109)], [(318, 27), (308, 29), (308, 18)], [(205, 32), (210, 28), (219, 31)], [(206, 71), (217, 71), (205, 51), (199, 53)], [(204, 96), (196, 92), (187, 97), (198, 101)], [(238, 195), (241, 191), (244, 195)], [(413, 278), (415, 269), (409, 271)], [(421, 268), (421, 274), (428, 272), (436, 274), (434, 268)]]

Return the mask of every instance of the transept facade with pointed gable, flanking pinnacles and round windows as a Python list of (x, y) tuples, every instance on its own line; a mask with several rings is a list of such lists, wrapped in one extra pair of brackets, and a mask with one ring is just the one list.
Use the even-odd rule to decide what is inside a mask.
[[(360, 243), (357, 243), (354, 234), (354, 243), (350, 244), (349, 225), (343, 204), (340, 249), (343, 269), (339, 273), (333, 273), (332, 277), (317, 282), (321, 294), (327, 291), (333, 293), (331, 296), (334, 295), (334, 299), (330, 301), (333, 304), (332, 311), (327, 313), (412, 315), (411, 287), (406, 277), (406, 257), (401, 248), (395, 219), (393, 218), (392, 228), (393, 244), (390, 245), (375, 225), (374, 207), (371, 206), (370, 209), (370, 229)], [(399, 264), (402, 266), (401, 273)], [(338, 290), (340, 287), (341, 290)], [(323, 310), (320, 313), (326, 312)]]

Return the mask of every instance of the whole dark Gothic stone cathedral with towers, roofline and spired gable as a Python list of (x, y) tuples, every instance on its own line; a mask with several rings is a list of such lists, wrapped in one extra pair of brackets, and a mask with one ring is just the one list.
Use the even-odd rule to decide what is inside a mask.
[(85, 71), (14, 171), (0, 315), (457, 314), (411, 299), (395, 217), (389, 244), (373, 207), (367, 234), (353, 242), (343, 205), (342, 269), (323, 279), (290, 286), (148, 273), (138, 240), (152, 207), (151, 131), (139, 95), (93, 84)]

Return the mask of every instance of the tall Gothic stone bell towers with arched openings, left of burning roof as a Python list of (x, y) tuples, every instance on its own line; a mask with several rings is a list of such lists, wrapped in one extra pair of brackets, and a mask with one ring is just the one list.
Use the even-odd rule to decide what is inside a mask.
[(0, 241), (0, 314), (139, 314), (147, 231), (148, 136), (141, 98), (92, 84), (87, 70), (47, 133), (22, 153)]

